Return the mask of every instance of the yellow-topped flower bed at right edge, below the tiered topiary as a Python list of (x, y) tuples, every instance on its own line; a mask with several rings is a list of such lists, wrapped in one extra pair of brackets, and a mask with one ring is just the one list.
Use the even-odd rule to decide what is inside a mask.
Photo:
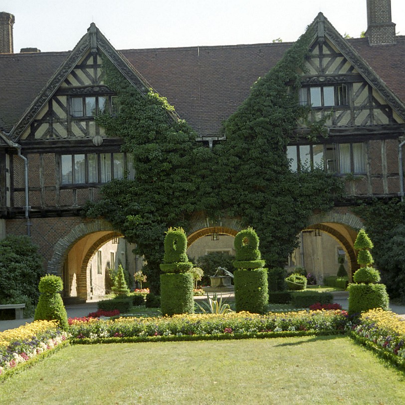
[(405, 369), (405, 321), (391, 311), (372, 309), (351, 328), (357, 341)]

